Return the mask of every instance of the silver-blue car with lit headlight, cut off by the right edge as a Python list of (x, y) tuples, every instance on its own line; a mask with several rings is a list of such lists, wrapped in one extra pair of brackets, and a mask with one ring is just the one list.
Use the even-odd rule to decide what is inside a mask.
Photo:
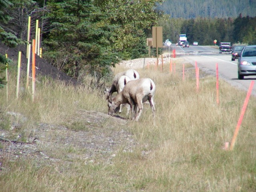
[(256, 45), (244, 46), (238, 53), (238, 79), (244, 76), (256, 75)]

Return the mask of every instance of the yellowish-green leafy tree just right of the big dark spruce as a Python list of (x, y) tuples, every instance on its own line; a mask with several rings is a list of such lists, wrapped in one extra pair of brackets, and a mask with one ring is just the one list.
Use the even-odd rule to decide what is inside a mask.
[(157, 9), (162, 2), (163, 0), (95, 0), (95, 4), (102, 11), (111, 14), (109, 22), (121, 26), (116, 33), (113, 47), (122, 53), (122, 58), (127, 53), (132, 56), (133, 48), (140, 44), (140, 38), (143, 37), (141, 32), (146, 37), (152, 37), (150, 29), (162, 18), (162, 12)]

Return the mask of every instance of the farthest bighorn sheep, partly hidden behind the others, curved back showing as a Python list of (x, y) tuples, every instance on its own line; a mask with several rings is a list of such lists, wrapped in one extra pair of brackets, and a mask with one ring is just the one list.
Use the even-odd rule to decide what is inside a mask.
[(106, 96), (110, 96), (113, 92), (118, 92), (117, 84), (118, 84), (118, 80), (120, 79), (120, 77), (122, 75), (128, 76), (130, 78), (130, 80), (136, 80), (136, 79), (140, 78), (140, 75), (134, 69), (128, 69), (128, 70), (126, 70), (124, 72), (120, 72), (120, 73), (116, 74), (115, 77), (114, 77), (112, 86), (110, 86), (109, 88), (107, 88), (105, 86), (104, 93), (106, 94)]

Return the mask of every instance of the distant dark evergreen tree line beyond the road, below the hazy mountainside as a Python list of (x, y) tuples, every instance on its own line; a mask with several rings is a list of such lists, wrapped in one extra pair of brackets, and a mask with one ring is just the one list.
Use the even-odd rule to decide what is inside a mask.
[(256, 17), (237, 18), (170, 18), (161, 21), (163, 38), (178, 42), (179, 34), (186, 34), (189, 42), (213, 45), (213, 41), (232, 44), (256, 44)]

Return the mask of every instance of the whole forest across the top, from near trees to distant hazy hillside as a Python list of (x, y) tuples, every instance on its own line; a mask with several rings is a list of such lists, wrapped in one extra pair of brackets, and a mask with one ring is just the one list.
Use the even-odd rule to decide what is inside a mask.
[[(10, 47), (31, 43), (39, 20), (43, 58), (78, 80), (88, 74), (95, 74), (100, 80), (120, 60), (146, 57), (146, 38), (152, 37), (152, 26), (163, 26), (163, 40), (172, 42), (177, 42), (179, 34), (187, 34), (188, 41), (198, 41), (200, 45), (213, 45), (214, 40), (256, 44), (253, 1), (248, 1), (250, 8), (236, 6), (232, 1), (218, 2), (216, 9), (213, 0), (193, 1), (193, 6), (191, 2), (0, 0), (0, 41)], [(183, 14), (174, 15), (175, 11)], [(28, 16), (30, 42), (27, 42)], [(3, 72), (4, 56), (0, 56), (0, 62)], [(0, 78), (0, 84), (4, 83), (4, 78)]]

